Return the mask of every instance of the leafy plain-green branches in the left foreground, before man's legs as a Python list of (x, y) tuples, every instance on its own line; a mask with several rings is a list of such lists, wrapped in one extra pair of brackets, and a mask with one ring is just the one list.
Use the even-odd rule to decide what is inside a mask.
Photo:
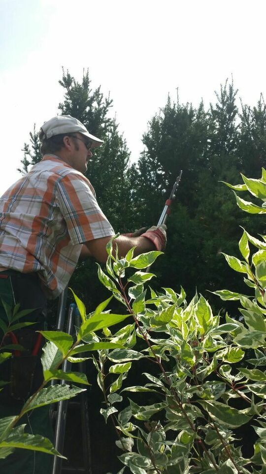
[[(16, 416), (8, 416), (0, 419), (0, 459), (9, 456), (15, 448), (30, 449), (35, 451), (42, 451), (47, 454), (57, 455), (63, 457), (53, 446), (51, 441), (44, 436), (29, 435), (24, 433), (26, 425), (20, 425), (20, 420), (25, 413), (32, 411), (38, 407), (56, 403), (61, 400), (66, 400), (78, 395), (85, 389), (77, 387), (73, 384), (89, 385), (86, 375), (73, 372), (64, 371), (60, 367), (64, 360), (71, 363), (86, 360), (81, 358), (81, 353), (96, 351), (97, 349), (120, 349), (122, 346), (118, 343), (97, 342), (97, 339), (91, 337), (90, 343), (83, 343), (83, 338), (86, 341), (94, 334), (95, 330), (99, 330), (106, 324), (112, 326), (117, 322), (123, 321), (128, 315), (109, 315), (104, 313), (106, 305), (101, 304), (93, 314), (88, 317), (82, 311), (82, 304), (75, 296), (77, 306), (80, 309), (82, 322), (77, 333), (73, 338), (70, 334), (62, 331), (40, 331), (47, 343), (43, 347), (43, 354), (41, 357), (43, 368), (43, 382), (37, 391), (25, 401), (20, 413)], [(107, 301), (107, 303), (109, 300)], [(0, 319), (0, 329), (3, 333), (0, 344), (0, 364), (4, 363), (12, 356), (12, 351), (23, 351), (24, 348), (19, 344), (4, 345), (5, 336), (11, 331), (27, 327), (32, 322), (17, 322), (25, 317), (32, 310), (19, 311), (19, 304), (12, 310), (4, 301), (2, 301), (8, 323), (6, 324)], [(106, 304), (107, 304), (106, 303)], [(19, 356), (14, 354), (14, 356)], [(51, 384), (51, 381), (62, 381), (61, 383)], [(72, 385), (68, 385), (70, 382)], [(8, 384), (8, 381), (1, 381), (0, 387)], [(2, 389), (0, 389), (2, 390)]]

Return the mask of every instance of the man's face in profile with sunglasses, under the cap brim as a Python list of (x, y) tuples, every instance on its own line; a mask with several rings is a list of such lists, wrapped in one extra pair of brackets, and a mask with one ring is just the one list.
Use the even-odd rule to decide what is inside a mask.
[(93, 156), (90, 148), (92, 142), (81, 133), (77, 133), (70, 138), (73, 144), (73, 152), (69, 164), (84, 174), (87, 171), (87, 161)]

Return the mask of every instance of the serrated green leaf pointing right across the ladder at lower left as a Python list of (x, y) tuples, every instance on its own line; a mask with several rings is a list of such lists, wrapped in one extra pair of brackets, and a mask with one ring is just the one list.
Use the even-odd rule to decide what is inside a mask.
[[(84, 382), (83, 382), (84, 383)], [(50, 403), (56, 403), (61, 400), (68, 400), (73, 396), (84, 392), (86, 389), (81, 389), (79, 387), (70, 387), (69, 385), (51, 385), (47, 388), (43, 388), (40, 392), (33, 398), (33, 400), (28, 404), (26, 401), (23, 410), (24, 413), (27, 411), (33, 410), (40, 406), (49, 405)]]

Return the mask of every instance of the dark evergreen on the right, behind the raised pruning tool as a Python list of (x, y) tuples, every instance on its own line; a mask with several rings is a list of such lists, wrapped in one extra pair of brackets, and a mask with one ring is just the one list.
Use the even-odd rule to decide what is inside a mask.
[[(216, 98), (207, 112), (202, 102), (196, 109), (191, 104), (180, 105), (179, 101), (172, 104), (168, 98), (165, 108), (152, 118), (143, 135), (146, 148), (137, 165), (136, 198), (141, 203), (138, 219), (144, 222), (150, 218), (150, 223), (158, 219), (164, 198), (178, 171), (183, 169), (178, 204), (167, 222), (166, 254), (156, 272), (161, 274), (158, 286), (182, 284), (190, 296), (195, 286), (200, 292), (222, 287), (238, 287), (240, 291), (239, 279), (234, 272), (228, 273), (220, 253), (237, 253), (240, 225), (251, 233), (257, 226), (255, 234), (259, 232), (256, 217), (243, 217), (235, 206), (233, 193), (219, 182), (236, 184), (243, 166), (239, 150), (245, 124), (241, 117), (239, 120), (233, 81), (221, 85)], [(262, 103), (253, 110), (257, 144), (265, 157), (264, 114)], [(249, 140), (249, 147), (254, 155), (254, 139)], [(248, 175), (253, 176), (257, 164), (252, 158), (248, 162)]]

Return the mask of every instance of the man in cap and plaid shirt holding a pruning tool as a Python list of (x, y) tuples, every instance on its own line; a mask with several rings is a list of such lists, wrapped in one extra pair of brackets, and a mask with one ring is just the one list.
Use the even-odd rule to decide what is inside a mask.
[[(12, 357), (15, 383), (8, 385), (2, 395), (0, 416), (13, 413), (14, 407), (15, 411), (19, 410), (23, 399), (38, 387), (39, 341), (35, 331), (43, 327), (46, 298), (62, 293), (79, 258), (92, 256), (105, 262), (105, 247), (114, 235), (91, 183), (83, 174), (87, 161), (93, 156), (92, 150), (103, 142), (70, 116), (53, 117), (45, 122), (39, 138), (42, 161), (0, 198), (0, 296), (10, 306), (18, 302), (21, 309), (37, 308), (27, 316), (27, 320), (37, 321), (34, 330), (23, 329), (17, 335), (27, 354)], [(162, 250), (166, 244), (165, 226), (152, 227), (141, 235), (122, 235), (114, 243), (121, 257), (133, 246), (135, 255)], [(3, 311), (0, 317), (5, 317)], [(25, 370), (25, 358), (30, 370)], [(23, 390), (16, 384), (21, 373), (29, 373)], [(37, 428), (33, 426), (34, 412), (38, 418)], [(33, 433), (42, 434), (39, 413), (39, 409), (33, 410), (31, 420), (26, 422), (30, 423)], [(43, 420), (45, 424), (46, 413)], [(49, 471), (39, 455), (22, 454), (18, 449), (0, 462), (0, 472), (42, 474)]]

